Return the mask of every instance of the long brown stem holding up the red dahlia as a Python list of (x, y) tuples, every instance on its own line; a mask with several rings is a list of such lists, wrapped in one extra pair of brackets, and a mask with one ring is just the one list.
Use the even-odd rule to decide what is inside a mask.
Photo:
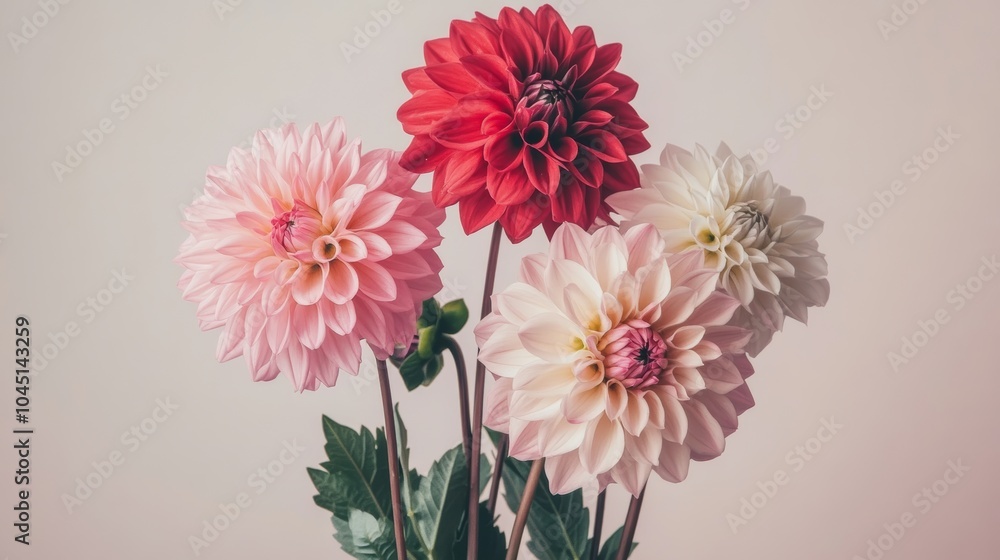
[[(497, 256), (500, 254), (500, 234), (503, 229), (500, 222), (493, 224), (493, 237), (490, 239), (490, 254), (486, 260), (486, 282), (483, 285), (483, 310), (480, 318), (485, 317), (491, 309), (490, 296), (493, 295), (493, 284), (497, 276)], [(472, 451), (470, 457), (477, 460), (469, 462), (469, 548), (468, 558), (479, 555), (479, 452), (483, 448), (483, 393), (486, 392), (486, 366), (476, 360), (476, 386), (472, 401)]]

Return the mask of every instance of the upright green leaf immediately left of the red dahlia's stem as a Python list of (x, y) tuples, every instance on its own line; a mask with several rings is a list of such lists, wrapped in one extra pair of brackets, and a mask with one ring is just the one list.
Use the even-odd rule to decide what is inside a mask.
[(469, 474), (459, 445), (431, 465), (417, 490), (417, 531), (435, 560), (453, 558), (455, 537), (468, 499)]

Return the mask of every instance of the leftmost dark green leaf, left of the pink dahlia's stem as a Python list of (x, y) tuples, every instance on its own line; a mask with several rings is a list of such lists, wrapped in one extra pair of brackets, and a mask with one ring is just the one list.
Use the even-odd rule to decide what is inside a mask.
[[(309, 476), (320, 493), (316, 504), (342, 519), (347, 518), (350, 509), (376, 518), (389, 518), (392, 504), (384, 443), (382, 449), (378, 449), (376, 438), (368, 428), (355, 432), (326, 416), (323, 417), (323, 432), (329, 461), (321, 466), (326, 472), (309, 469)], [(380, 439), (384, 442), (384, 436)]]

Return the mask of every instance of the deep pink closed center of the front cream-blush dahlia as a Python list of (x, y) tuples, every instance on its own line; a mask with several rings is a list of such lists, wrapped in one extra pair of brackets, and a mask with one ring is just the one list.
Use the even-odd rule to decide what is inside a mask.
[(608, 331), (602, 340), (604, 375), (627, 389), (656, 385), (667, 365), (667, 344), (642, 321), (631, 321)]

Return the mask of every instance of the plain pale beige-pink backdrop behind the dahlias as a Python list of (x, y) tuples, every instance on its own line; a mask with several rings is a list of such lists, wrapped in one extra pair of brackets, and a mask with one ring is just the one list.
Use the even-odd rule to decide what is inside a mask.
[[(41, 8), (33, 0), (2, 4), (2, 316), (30, 316), (36, 355), (68, 321), (80, 333), (32, 380), (30, 547), (12, 541), (14, 438), (0, 436), (0, 558), (192, 558), (189, 536), (240, 492), (252, 505), (199, 557), (344, 556), (329, 514), (312, 503), (305, 469), (324, 457), (321, 414), (381, 424), (371, 366), (368, 377), (307, 395), (284, 379), (251, 383), (242, 360), (215, 362), (218, 334), (198, 330), (171, 260), (185, 236), (181, 208), (231, 146), (281, 124), (283, 113), (303, 124), (344, 115), (349, 134), (367, 146), (402, 149), (407, 137), (394, 117), (407, 98), (400, 72), (420, 64), (422, 42), (444, 35), (451, 19), (476, 9), (495, 15), (502, 5), (399, 2), (402, 11), (350, 61), (342, 43), (387, 1), (246, 1), (225, 12), (211, 0), (77, 1), (16, 49), (9, 34)], [(894, 4), (919, 9), (886, 39), (878, 21)], [(735, 21), (679, 69), (673, 54), (724, 9)], [(571, 25), (593, 26), (599, 42), (624, 43), (619, 69), (641, 84), (635, 106), (651, 123), (654, 148), (640, 163), (668, 141), (690, 148), (725, 140), (745, 152), (773, 137), (780, 150), (765, 167), (827, 223), (820, 242), (829, 305), (811, 313), (808, 329), (790, 323), (755, 360), (757, 406), (726, 453), (693, 465), (683, 484), (652, 482), (635, 557), (865, 558), (869, 539), (910, 512), (916, 525), (892, 539), (884, 558), (996, 558), (1000, 280), (983, 283), (962, 309), (948, 297), (977, 274), (981, 258), (1000, 252), (1000, 6), (566, 0), (561, 10)], [(115, 99), (141, 83), (148, 65), (167, 76), (123, 120)], [(833, 95), (821, 108), (799, 109), (810, 88), (824, 85)], [(810, 118), (786, 137), (779, 120), (797, 109)], [(52, 163), (105, 118), (114, 131), (58, 180)], [(913, 181), (903, 166), (939, 127), (960, 138)], [(905, 194), (849, 237), (845, 224), (856, 224), (859, 208), (897, 179)], [(429, 184), (421, 178), (422, 188)], [(466, 237), (449, 216), (442, 297), (462, 296), (478, 309), (488, 233)], [(520, 256), (544, 247), (540, 235), (505, 243), (498, 286), (513, 278)], [(134, 276), (128, 287), (101, 312), (79, 313), (122, 267)], [(938, 309), (948, 323), (894, 371), (887, 354)], [(7, 332), (3, 348), (13, 355)], [(471, 352), (471, 329), (462, 340)], [(3, 432), (15, 426), (16, 394), (5, 378)], [(459, 441), (454, 385), (446, 371), (432, 388), (405, 394), (394, 379), (422, 470)], [(164, 398), (179, 410), (130, 452), (122, 433)], [(844, 426), (837, 435), (819, 450), (814, 442), (808, 462), (790, 460), (831, 417)], [(277, 459), (285, 441), (305, 451), (257, 495), (248, 476)], [(69, 513), (62, 496), (116, 450), (125, 463)], [(929, 511), (917, 507), (913, 496), (957, 460), (968, 474), (939, 483), (947, 494)], [(734, 531), (727, 516), (739, 516), (741, 500), (779, 470), (788, 484)], [(623, 494), (611, 493), (606, 526), (624, 518)], [(510, 521), (501, 520), (507, 531)]]

